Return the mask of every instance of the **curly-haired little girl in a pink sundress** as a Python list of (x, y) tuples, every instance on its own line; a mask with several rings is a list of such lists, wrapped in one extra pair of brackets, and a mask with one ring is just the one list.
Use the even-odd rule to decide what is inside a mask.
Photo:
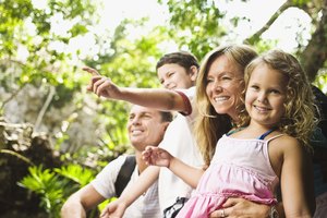
[[(214, 105), (214, 77), (207, 76), (207, 95)], [(315, 208), (308, 137), (314, 129), (313, 95), (295, 58), (274, 50), (250, 63), (245, 71), (245, 108), (239, 129), (218, 141), (208, 169), (201, 173), (161, 148), (148, 147), (144, 159), (164, 166), (196, 191), (178, 217), (208, 217), (228, 197), (274, 205), (278, 183), (287, 217), (312, 217)], [(209, 96), (210, 95), (210, 96)], [(217, 111), (218, 112), (218, 111)], [(203, 174), (203, 177), (201, 177)], [(221, 209), (220, 217), (225, 217)]]

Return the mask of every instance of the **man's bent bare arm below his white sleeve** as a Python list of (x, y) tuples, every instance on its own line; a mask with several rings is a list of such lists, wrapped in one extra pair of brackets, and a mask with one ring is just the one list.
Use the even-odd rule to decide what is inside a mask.
[(97, 206), (106, 198), (92, 184), (87, 184), (72, 194), (61, 208), (62, 218), (86, 218), (86, 211)]

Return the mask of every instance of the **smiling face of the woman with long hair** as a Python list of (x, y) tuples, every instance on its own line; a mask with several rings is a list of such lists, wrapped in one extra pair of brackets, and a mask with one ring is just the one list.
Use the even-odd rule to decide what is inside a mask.
[(217, 113), (238, 119), (237, 106), (241, 104), (243, 72), (225, 55), (209, 66), (206, 94)]

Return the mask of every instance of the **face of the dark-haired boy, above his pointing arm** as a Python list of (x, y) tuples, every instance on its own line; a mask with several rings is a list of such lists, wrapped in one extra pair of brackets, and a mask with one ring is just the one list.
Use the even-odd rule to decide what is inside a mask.
[(187, 73), (187, 70), (177, 63), (167, 63), (158, 68), (157, 73), (160, 83), (165, 88), (190, 88), (194, 86), (197, 69), (193, 69), (196, 72)]

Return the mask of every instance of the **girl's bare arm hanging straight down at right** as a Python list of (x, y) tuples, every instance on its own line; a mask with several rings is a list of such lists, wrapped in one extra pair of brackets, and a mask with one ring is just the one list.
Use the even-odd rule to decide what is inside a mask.
[(315, 211), (312, 158), (293, 137), (283, 136), (278, 143), (282, 145), (280, 184), (286, 217), (312, 217)]

